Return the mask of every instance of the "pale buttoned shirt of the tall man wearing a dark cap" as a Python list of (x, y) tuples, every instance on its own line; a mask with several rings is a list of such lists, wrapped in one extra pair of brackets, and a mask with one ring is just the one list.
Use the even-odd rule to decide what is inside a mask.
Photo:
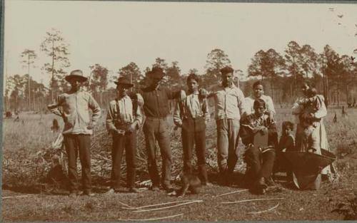
[(216, 120), (223, 118), (240, 120), (241, 115), (246, 113), (243, 92), (234, 85), (226, 88), (220, 85), (209, 95), (214, 96)]

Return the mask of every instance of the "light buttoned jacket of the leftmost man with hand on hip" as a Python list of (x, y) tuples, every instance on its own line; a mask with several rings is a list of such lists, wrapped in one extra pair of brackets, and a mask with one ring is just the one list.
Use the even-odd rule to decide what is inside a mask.
[[(76, 93), (63, 93), (59, 95), (57, 102), (49, 105), (48, 108), (52, 113), (64, 119), (64, 135), (91, 135), (93, 131), (87, 127), (90, 124), (96, 125), (101, 116), (101, 108), (99, 108), (96, 100), (94, 100), (90, 93), (82, 90)], [(62, 109), (60, 110), (59, 108)], [(91, 118), (89, 117), (89, 109), (93, 112)]]

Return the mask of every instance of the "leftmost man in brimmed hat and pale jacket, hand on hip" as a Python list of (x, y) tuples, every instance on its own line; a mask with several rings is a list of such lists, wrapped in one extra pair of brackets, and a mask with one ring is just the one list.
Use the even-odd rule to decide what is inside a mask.
[[(84, 195), (93, 196), (91, 192), (91, 135), (101, 115), (101, 108), (90, 93), (81, 90), (81, 85), (87, 80), (81, 70), (71, 71), (65, 80), (71, 84), (71, 89), (59, 95), (56, 103), (48, 105), (48, 108), (64, 120), (64, 145), (69, 159), (69, 195), (71, 197), (79, 195), (79, 177), (76, 168), (79, 154)], [(92, 110), (92, 115), (89, 109)]]

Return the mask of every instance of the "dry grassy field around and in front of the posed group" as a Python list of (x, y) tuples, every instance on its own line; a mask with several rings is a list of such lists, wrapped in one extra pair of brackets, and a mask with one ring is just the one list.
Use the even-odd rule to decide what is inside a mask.
[[(280, 128), (283, 120), (290, 120), (290, 110), (278, 109), (277, 120)], [(333, 115), (337, 113), (338, 122), (333, 123)], [(3, 167), (11, 167), (9, 160), (24, 160), (16, 163), (15, 170), (22, 172), (22, 178), (11, 182), (13, 175), (4, 172), (2, 187), (2, 220), (3, 221), (116, 221), (119, 219), (151, 219), (182, 214), (166, 221), (231, 221), (231, 220), (333, 220), (346, 219), (348, 214), (356, 214), (357, 199), (357, 110), (348, 109), (348, 115), (341, 117), (341, 109), (329, 109), (326, 118), (326, 130), (332, 150), (338, 157), (336, 167), (340, 179), (338, 182), (323, 182), (323, 187), (318, 191), (299, 191), (283, 181), (277, 181), (276, 187), (271, 187), (267, 195), (252, 195), (249, 192), (240, 192), (232, 195), (216, 197), (226, 192), (243, 190), (241, 177), (243, 172), (236, 171), (232, 178), (231, 187), (221, 187), (216, 184), (216, 172), (210, 168), (209, 178), (212, 187), (204, 187), (199, 195), (187, 195), (183, 198), (170, 197), (162, 192), (143, 190), (140, 194), (119, 193), (106, 195), (108, 190), (109, 175), (105, 173), (101, 182), (94, 183), (95, 197), (79, 196), (70, 198), (66, 190), (54, 185), (44, 183), (36, 184), (36, 172), (29, 174), (34, 165), (34, 160), (26, 162), (26, 157), (32, 157), (41, 150), (50, 147), (58, 133), (51, 133), (51, 121), (54, 115), (20, 115), (24, 123), (15, 123), (14, 120), (4, 120), (4, 147)], [(62, 124), (61, 122), (59, 122)], [(104, 129), (103, 120), (96, 129), (99, 133)], [(208, 153), (215, 152), (215, 123), (212, 120), (208, 125), (207, 146)], [(180, 133), (173, 130), (172, 145), (174, 162), (181, 163)], [(103, 137), (101, 137), (103, 138)], [(104, 152), (109, 145), (103, 145)], [(139, 148), (142, 150), (144, 143), (140, 140)], [(210, 154), (211, 154), (210, 153)], [(6, 161), (7, 160), (7, 161)], [(38, 162), (43, 162), (37, 160)], [(6, 162), (6, 163), (4, 163)], [(15, 165), (15, 164), (14, 164)], [(241, 161), (238, 166), (241, 165)], [(178, 166), (179, 167), (179, 166)], [(146, 167), (142, 167), (145, 169)], [(42, 170), (42, 169), (41, 169)], [(37, 170), (36, 171), (40, 171)], [(43, 171), (43, 170), (42, 170)], [(29, 179), (31, 178), (31, 179)], [(146, 172), (141, 173), (139, 181), (147, 180)], [(24, 182), (21, 184), (21, 182)], [(176, 187), (178, 187), (178, 182)], [(17, 197), (26, 196), (26, 197)], [(243, 199), (273, 198), (276, 200), (263, 200), (238, 204), (222, 204)], [(277, 199), (281, 198), (281, 199)], [(352, 200), (356, 199), (356, 200)], [(181, 207), (163, 209), (152, 212), (134, 212), (124, 209), (124, 204), (131, 207), (140, 207), (148, 204), (174, 202), (178, 200), (201, 200), (202, 202), (187, 204)], [(348, 201), (350, 200), (350, 201)], [(124, 203), (124, 204), (123, 204)], [(276, 207), (278, 205), (278, 207)], [(269, 212), (252, 214), (265, 209), (276, 207)], [(353, 209), (354, 208), (354, 209)], [(338, 209), (338, 212), (333, 210)], [(351, 218), (351, 217), (350, 217)]]

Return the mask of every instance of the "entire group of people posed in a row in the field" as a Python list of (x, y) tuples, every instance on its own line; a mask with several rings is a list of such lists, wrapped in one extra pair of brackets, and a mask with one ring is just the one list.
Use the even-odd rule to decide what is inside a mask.
[[(327, 148), (326, 131), (322, 118), (326, 115), (323, 97), (317, 95), (308, 85), (303, 86), (306, 97), (298, 100), (293, 114), (298, 115), (296, 142), (293, 140), (293, 123), (284, 122), (281, 142), (278, 142), (273, 100), (263, 94), (263, 84), (253, 84), (253, 94), (247, 98), (233, 83), (233, 68), (221, 69), (221, 84), (211, 90), (199, 87), (200, 78), (191, 73), (187, 78), (188, 91), (172, 91), (161, 86), (165, 73), (159, 67), (146, 74), (148, 86), (137, 93), (130, 91), (133, 84), (121, 77), (116, 81), (117, 95), (107, 109), (106, 128), (113, 138), (111, 190), (121, 188), (121, 160), (126, 155), (126, 183), (129, 192), (139, 192), (135, 187), (136, 177), (136, 134), (144, 131), (148, 172), (152, 182), (151, 190), (172, 192), (171, 185), (171, 143), (169, 100), (176, 100), (174, 124), (181, 128), (183, 147), (183, 174), (192, 174), (193, 152), (197, 155), (198, 177), (202, 185), (211, 185), (206, 170), (206, 124), (210, 120), (208, 98), (214, 99), (217, 130), (217, 162), (221, 184), (228, 184), (238, 160), (238, 138), (246, 145), (244, 160), (247, 162), (247, 182), (254, 192), (263, 193), (266, 180), (270, 179), (281, 150), (304, 150), (320, 152)], [(56, 103), (49, 109), (64, 120), (64, 145), (69, 157), (70, 196), (79, 195), (76, 160), (79, 155), (82, 166), (84, 195), (91, 192), (90, 135), (99, 120), (101, 108), (96, 100), (83, 90), (81, 83), (86, 81), (82, 71), (72, 71), (66, 76), (71, 90), (59, 95)], [(310, 90), (309, 90), (310, 89)], [(61, 108), (61, 109), (59, 109)], [(89, 110), (92, 111), (90, 117)], [(142, 113), (144, 111), (144, 115)], [(290, 137), (291, 136), (291, 137)], [(289, 140), (290, 139), (290, 140)], [(311, 140), (313, 139), (313, 140)], [(161, 175), (156, 161), (156, 141), (162, 158)], [(312, 143), (313, 142), (313, 143)], [(196, 151), (193, 151), (196, 150)]]

